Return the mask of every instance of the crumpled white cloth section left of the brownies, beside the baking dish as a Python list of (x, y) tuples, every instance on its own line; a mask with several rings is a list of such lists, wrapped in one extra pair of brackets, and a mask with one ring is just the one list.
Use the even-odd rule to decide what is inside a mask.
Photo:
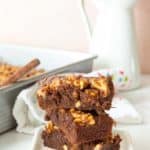
[(37, 105), (37, 88), (38, 84), (35, 84), (17, 96), (13, 116), (17, 122), (18, 132), (33, 134), (34, 129), (45, 122), (44, 112)]

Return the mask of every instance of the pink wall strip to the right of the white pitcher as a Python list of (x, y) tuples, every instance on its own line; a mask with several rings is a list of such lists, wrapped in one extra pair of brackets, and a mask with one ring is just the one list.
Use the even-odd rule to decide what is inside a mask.
[(150, 0), (139, 0), (135, 21), (142, 71), (150, 73)]

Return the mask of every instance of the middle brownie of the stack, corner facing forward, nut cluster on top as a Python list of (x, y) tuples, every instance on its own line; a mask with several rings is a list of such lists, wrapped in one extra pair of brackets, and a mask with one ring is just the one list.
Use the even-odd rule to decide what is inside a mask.
[(111, 135), (113, 120), (105, 113), (93, 115), (75, 109), (47, 111), (46, 120), (51, 120), (72, 144), (91, 140), (104, 140)]

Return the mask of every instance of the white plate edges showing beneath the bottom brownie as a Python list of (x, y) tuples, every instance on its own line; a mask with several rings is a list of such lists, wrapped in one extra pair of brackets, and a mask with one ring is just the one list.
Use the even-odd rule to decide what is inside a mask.
[[(43, 146), (43, 141), (41, 139), (42, 129), (43, 127), (39, 127), (35, 131), (31, 150), (53, 150), (51, 148), (47, 148)], [(132, 139), (129, 133), (122, 130), (114, 130), (113, 133), (119, 134), (122, 139), (120, 150), (133, 150)]]

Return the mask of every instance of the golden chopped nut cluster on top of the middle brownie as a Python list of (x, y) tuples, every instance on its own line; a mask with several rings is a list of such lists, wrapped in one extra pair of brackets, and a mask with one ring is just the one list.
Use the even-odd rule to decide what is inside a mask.
[(74, 118), (74, 122), (79, 123), (80, 125), (94, 125), (94, 117), (90, 113), (84, 113), (81, 111), (76, 111), (74, 109), (70, 110), (71, 115)]

